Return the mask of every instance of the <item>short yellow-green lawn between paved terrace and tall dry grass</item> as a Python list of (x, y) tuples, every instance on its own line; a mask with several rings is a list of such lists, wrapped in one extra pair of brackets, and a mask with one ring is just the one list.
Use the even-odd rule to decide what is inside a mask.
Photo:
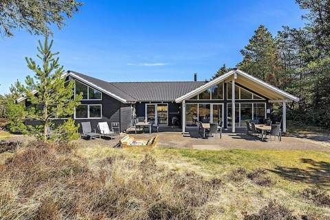
[[(330, 153), (319, 151), (228, 150), (206, 151), (177, 148), (125, 148), (102, 146), (78, 148), (78, 155), (96, 161), (109, 155), (123, 154), (140, 160), (146, 153), (157, 164), (172, 170), (190, 170), (208, 178), (223, 180), (217, 203), (223, 208), (221, 219), (241, 219), (243, 212), (256, 212), (271, 199), (276, 199), (298, 214), (321, 213), (330, 217), (330, 208), (316, 206), (302, 199), (305, 188), (330, 189)], [(247, 172), (263, 168), (274, 182), (273, 186), (259, 186), (248, 178), (232, 181), (232, 170), (245, 168)], [(320, 218), (321, 218), (320, 216)], [(318, 217), (316, 218), (318, 219)]]

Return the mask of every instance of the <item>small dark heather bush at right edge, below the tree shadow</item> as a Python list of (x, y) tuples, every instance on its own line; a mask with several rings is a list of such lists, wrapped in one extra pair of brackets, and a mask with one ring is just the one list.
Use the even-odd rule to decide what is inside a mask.
[(302, 196), (304, 199), (313, 201), (317, 206), (330, 207), (330, 195), (318, 188), (305, 188)]

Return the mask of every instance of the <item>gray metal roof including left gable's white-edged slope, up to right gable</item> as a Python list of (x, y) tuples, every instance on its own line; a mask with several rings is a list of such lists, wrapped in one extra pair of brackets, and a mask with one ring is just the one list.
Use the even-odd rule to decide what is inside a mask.
[(129, 102), (175, 101), (176, 98), (206, 84), (204, 81), (108, 83), (85, 74), (73, 71), (69, 71), (69, 73), (75, 74)]

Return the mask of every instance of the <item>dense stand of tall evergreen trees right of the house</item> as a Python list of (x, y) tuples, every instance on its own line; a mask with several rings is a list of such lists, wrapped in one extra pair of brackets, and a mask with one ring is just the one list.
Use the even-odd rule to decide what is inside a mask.
[[(305, 25), (283, 26), (276, 36), (260, 25), (236, 67), (300, 98), (289, 104), (289, 119), (330, 127), (330, 0), (296, 2)], [(213, 78), (230, 69), (223, 65)]]

